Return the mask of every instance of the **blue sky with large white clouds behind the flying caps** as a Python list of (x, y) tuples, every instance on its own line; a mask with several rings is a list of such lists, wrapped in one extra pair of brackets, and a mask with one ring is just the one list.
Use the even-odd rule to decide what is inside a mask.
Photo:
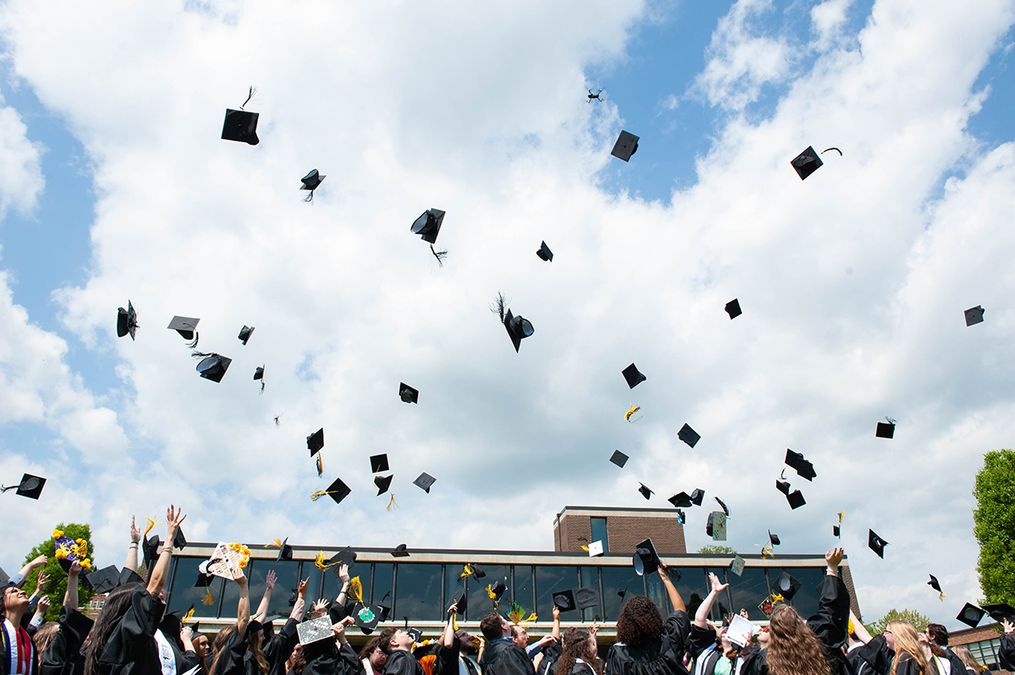
[[(959, 627), (973, 477), (1015, 433), (1013, 21), (1013, 0), (7, 0), (0, 475), (49, 483), (2, 497), (0, 565), (61, 521), (119, 564), (131, 515), (171, 501), (192, 540), (549, 550), (565, 504), (700, 487), (748, 553), (768, 529), (823, 552), (844, 510), (865, 618)], [(251, 85), (261, 143), (221, 140)], [(842, 156), (801, 182), (809, 145)], [(443, 268), (409, 231), (430, 207)], [(498, 291), (535, 327), (521, 353)], [(220, 384), (174, 315), (233, 359)], [(817, 471), (789, 472), (797, 511), (787, 448)], [(335, 477), (345, 501), (310, 499)]]

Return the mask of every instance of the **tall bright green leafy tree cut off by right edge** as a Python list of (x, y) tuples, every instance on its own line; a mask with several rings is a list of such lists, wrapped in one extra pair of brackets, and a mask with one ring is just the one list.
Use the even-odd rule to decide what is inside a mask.
[(979, 542), (979, 588), (989, 604), (1015, 602), (1015, 452), (984, 455), (972, 489), (973, 534)]

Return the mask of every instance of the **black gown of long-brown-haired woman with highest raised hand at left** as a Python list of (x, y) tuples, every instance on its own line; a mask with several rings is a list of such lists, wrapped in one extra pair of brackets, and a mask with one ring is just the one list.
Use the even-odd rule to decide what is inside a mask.
[(100, 675), (150, 675), (162, 670), (155, 630), (165, 605), (138, 586), (127, 611), (113, 628), (98, 657)]

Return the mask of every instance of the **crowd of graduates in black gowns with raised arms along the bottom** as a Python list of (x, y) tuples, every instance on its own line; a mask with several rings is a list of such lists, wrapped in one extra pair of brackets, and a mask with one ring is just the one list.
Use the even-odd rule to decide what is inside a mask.
[[(0, 675), (979, 675), (985, 670), (968, 650), (949, 650), (948, 632), (939, 624), (921, 632), (904, 621), (890, 621), (881, 634), (870, 635), (853, 616), (838, 576), (842, 549), (825, 555), (826, 575), (813, 616), (776, 604), (763, 627), (744, 612), (721, 623), (709, 621), (727, 588), (715, 575), (709, 575), (710, 592), (689, 617), (667, 567), (657, 560), (651, 573), (659, 575), (673, 612), (664, 618), (649, 598), (629, 596), (617, 618), (616, 642), (605, 657), (600, 657), (598, 624), (561, 632), (557, 607), (550, 634), (529, 645), (524, 625), (495, 609), (480, 621), (481, 636), (458, 628), (457, 603), (449, 607), (439, 637), (422, 639), (408, 625), (385, 627), (357, 654), (346, 635), (355, 621), (344, 564), (335, 601), (308, 608), (309, 580), (301, 582), (278, 632), (267, 616), (275, 576), (268, 573), (264, 598), (252, 614), (247, 578), (238, 569), (232, 576), (240, 597), (236, 620), (209, 642), (186, 617), (165, 613), (163, 588), (185, 518), (170, 508), (165, 544), (147, 581), (125, 578), (94, 621), (78, 609), (82, 568), (74, 561), (60, 619), (44, 622), (48, 600), (29, 598), (20, 587), (46, 557), (28, 562), (3, 589)], [(137, 570), (139, 539), (132, 528), (125, 570), (130, 573)], [(45, 579), (39, 582), (37, 588), (43, 588)], [(323, 625), (323, 632), (304, 630), (309, 624)], [(377, 627), (377, 621), (371, 625)], [(1015, 624), (1004, 620), (1002, 625), (999, 657), (1001, 667), (1010, 670)]]

